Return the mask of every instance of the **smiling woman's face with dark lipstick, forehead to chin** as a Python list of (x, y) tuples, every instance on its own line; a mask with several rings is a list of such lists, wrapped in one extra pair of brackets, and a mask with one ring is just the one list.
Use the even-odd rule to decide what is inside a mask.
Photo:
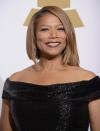
[(56, 16), (46, 13), (37, 20), (36, 41), (40, 57), (61, 56), (66, 46), (66, 33)]

